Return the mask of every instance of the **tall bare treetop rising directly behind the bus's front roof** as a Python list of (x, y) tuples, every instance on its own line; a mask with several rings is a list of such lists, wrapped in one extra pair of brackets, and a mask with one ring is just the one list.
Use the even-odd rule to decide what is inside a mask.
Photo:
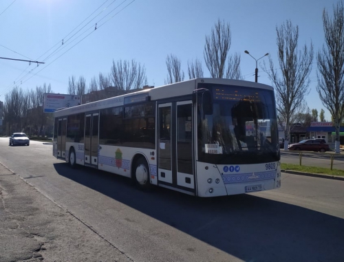
[(241, 79), (240, 55), (228, 56), (231, 42), (230, 24), (218, 20), (211, 30), (211, 35), (206, 36), (203, 52), (206, 67), (212, 78)]

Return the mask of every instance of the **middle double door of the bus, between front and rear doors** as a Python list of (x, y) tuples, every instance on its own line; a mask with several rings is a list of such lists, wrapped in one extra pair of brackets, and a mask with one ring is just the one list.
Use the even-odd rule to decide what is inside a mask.
[(98, 166), (99, 113), (85, 115), (85, 164)]

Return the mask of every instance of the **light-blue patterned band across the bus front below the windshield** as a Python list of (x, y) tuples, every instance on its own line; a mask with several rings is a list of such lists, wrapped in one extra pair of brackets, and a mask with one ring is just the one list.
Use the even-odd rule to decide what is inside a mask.
[(245, 173), (239, 175), (222, 175), (224, 184), (252, 182), (259, 180), (275, 179), (276, 171)]

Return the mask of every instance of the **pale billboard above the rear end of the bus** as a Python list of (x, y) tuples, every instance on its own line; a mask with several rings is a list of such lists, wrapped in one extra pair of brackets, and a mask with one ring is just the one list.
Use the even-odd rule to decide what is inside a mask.
[(44, 94), (43, 112), (53, 113), (57, 109), (81, 105), (80, 95)]

